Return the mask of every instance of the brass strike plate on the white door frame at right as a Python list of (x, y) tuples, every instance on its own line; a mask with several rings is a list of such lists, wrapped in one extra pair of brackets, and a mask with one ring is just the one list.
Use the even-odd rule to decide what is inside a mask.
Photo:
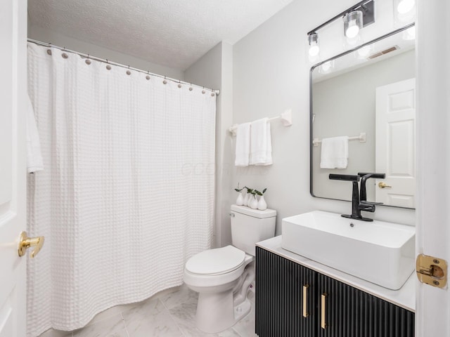
[(420, 254), (416, 260), (416, 274), (420, 282), (444, 288), (447, 284), (447, 262), (442, 258)]

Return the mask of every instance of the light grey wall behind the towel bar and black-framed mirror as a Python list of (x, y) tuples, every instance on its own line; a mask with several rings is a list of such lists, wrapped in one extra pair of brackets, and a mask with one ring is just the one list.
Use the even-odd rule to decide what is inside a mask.
[[(349, 213), (347, 201), (311, 197), (309, 194), (309, 68), (304, 51), (307, 32), (354, 1), (314, 1), (305, 7), (295, 0), (233, 46), (233, 123), (252, 121), (293, 110), (293, 126), (272, 122), (272, 166), (233, 168), (234, 185), (267, 187), (269, 208), (281, 218), (321, 209)], [(325, 48), (324, 44), (321, 44)], [(232, 162), (233, 151), (229, 153)], [(413, 224), (414, 211), (378, 206), (376, 218)]]

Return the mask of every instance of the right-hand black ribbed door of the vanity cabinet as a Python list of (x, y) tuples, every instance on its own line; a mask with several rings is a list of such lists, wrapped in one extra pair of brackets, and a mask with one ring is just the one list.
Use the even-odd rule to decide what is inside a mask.
[[(320, 337), (413, 337), (414, 314), (325, 275), (318, 276)], [(325, 296), (325, 329), (321, 326)]]

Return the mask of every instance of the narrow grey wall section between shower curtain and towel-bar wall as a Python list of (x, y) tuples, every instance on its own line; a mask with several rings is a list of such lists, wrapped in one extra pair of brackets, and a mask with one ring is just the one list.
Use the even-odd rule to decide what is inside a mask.
[(232, 90), (233, 47), (222, 42), (208, 51), (184, 72), (184, 79), (188, 82), (220, 89), (217, 97), (216, 112), (216, 215), (214, 223), (214, 246), (231, 244), (229, 190), (231, 172), (229, 153), (231, 141), (226, 128), (231, 126), (233, 114)]

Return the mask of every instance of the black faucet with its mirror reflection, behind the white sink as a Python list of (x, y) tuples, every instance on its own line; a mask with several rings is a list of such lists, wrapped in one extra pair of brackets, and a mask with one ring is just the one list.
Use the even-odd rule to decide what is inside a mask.
[[(357, 176), (332, 173), (328, 178), (331, 180), (346, 180), (352, 182), (352, 214), (342, 214), (342, 217), (363, 221), (373, 221), (371, 218), (364, 218), (364, 216), (361, 216), (361, 211), (375, 212), (375, 205), (380, 205), (382, 203), (367, 201), (366, 180), (368, 178), (385, 178), (385, 173), (358, 173)], [(361, 191), (358, 189), (359, 178), (361, 178)]]

